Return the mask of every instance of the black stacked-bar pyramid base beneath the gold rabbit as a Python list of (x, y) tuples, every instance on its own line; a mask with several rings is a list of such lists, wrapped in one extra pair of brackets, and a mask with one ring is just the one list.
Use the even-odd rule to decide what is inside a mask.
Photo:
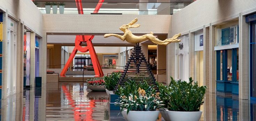
[(133, 52), (126, 63), (125, 70), (123, 71), (115, 90), (118, 89), (119, 85), (125, 85), (125, 82), (129, 80), (134, 80), (136, 83), (146, 81), (147, 84), (156, 87), (156, 81), (154, 74), (151, 71), (151, 65), (146, 61), (141, 46), (139, 46), (138, 43), (134, 46)]

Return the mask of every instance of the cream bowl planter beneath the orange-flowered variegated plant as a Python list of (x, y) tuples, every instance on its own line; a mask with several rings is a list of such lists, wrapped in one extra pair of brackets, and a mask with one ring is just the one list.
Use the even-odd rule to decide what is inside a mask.
[(121, 112), (126, 121), (156, 121), (160, 111), (129, 111)]

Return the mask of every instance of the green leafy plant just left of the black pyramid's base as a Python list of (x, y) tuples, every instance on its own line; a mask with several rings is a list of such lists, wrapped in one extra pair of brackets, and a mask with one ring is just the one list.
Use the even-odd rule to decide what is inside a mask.
[(104, 81), (106, 83), (105, 87), (107, 90), (114, 90), (120, 79), (121, 73), (113, 72), (110, 76), (104, 76)]

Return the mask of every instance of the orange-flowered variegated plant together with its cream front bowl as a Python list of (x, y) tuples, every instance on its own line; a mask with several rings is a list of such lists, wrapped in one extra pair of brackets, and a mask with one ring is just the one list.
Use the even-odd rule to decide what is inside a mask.
[(136, 84), (135, 81), (119, 86), (117, 92), (120, 99), (115, 102), (120, 106), (121, 113), (126, 121), (156, 121), (161, 105), (159, 92), (146, 82)]

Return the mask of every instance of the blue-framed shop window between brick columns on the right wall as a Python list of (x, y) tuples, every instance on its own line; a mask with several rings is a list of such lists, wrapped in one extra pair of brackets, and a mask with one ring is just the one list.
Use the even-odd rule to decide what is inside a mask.
[(238, 48), (216, 51), (217, 91), (238, 94)]

